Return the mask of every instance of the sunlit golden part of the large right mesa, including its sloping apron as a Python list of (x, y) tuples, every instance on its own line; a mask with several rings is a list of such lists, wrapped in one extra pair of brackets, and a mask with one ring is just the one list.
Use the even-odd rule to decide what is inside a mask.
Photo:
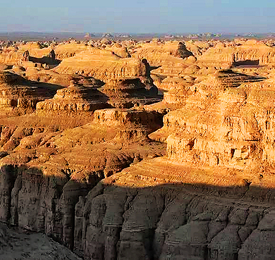
[(274, 187), (274, 78), (221, 70), (190, 88), (183, 108), (164, 116), (164, 127), (149, 135), (167, 137), (168, 158), (123, 172), (135, 175), (142, 167), (140, 175), (151, 184)]

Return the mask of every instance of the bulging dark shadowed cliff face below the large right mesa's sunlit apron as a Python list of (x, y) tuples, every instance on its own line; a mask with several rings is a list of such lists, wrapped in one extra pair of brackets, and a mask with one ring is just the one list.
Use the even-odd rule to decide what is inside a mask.
[(85, 259), (273, 259), (271, 194), (246, 186), (100, 183), (76, 205), (75, 252)]

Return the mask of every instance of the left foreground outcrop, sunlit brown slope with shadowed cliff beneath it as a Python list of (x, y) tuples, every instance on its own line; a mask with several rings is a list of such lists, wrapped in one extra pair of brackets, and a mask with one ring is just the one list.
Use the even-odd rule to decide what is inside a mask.
[[(45, 233), (73, 248), (79, 197), (85, 197), (99, 180), (130, 163), (165, 153), (163, 144), (147, 139), (147, 132), (156, 128), (157, 114), (122, 111), (121, 118), (125, 116), (127, 122), (118, 120), (114, 124), (106, 124), (103, 115), (96, 115), (93, 124), (71, 130), (67, 115), (67, 130), (63, 132), (38, 126), (2, 130), (1, 221)], [(152, 122), (146, 118), (142, 121), (145, 116)], [(138, 132), (142, 132), (142, 125), (147, 128), (141, 140)]]

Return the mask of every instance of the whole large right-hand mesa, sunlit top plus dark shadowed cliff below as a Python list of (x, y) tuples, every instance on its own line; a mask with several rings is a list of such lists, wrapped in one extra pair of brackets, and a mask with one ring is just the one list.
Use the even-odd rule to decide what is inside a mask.
[(132, 163), (80, 198), (75, 251), (86, 259), (273, 259), (273, 91), (274, 79), (232, 70), (193, 85), (183, 109), (164, 116), (167, 156)]

